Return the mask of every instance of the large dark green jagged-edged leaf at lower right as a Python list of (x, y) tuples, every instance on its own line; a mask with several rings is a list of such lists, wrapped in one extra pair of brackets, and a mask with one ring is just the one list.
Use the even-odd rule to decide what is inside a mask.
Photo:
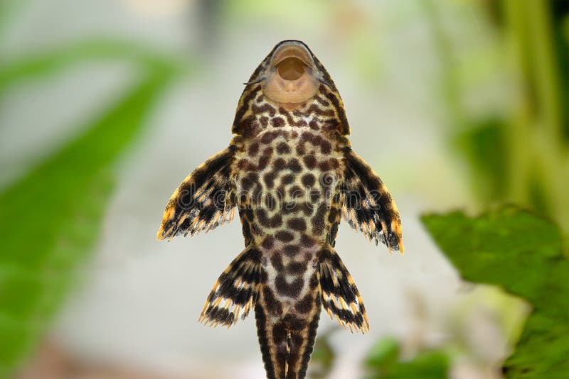
[(422, 216), (447, 258), (469, 282), (499, 285), (533, 306), (507, 378), (569, 378), (569, 261), (550, 221), (515, 207), (471, 218)]

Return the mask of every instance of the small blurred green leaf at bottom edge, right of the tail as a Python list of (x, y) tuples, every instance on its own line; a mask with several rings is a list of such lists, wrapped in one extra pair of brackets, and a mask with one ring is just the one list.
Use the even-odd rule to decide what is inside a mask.
[(369, 378), (442, 379), (447, 378), (449, 357), (445, 351), (418, 353), (411, 361), (400, 361), (400, 345), (395, 339), (382, 339), (366, 358)]

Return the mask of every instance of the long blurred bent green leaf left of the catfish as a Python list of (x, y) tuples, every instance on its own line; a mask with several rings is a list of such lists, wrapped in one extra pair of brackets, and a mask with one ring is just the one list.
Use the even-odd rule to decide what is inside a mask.
[(78, 263), (97, 241), (115, 183), (113, 167), (172, 79), (186, 70), (180, 60), (115, 40), (85, 41), (0, 65), (1, 99), (21, 82), (101, 60), (131, 62), (139, 82), (87, 121), (82, 136), (0, 192), (0, 376), (13, 373), (41, 338)]

